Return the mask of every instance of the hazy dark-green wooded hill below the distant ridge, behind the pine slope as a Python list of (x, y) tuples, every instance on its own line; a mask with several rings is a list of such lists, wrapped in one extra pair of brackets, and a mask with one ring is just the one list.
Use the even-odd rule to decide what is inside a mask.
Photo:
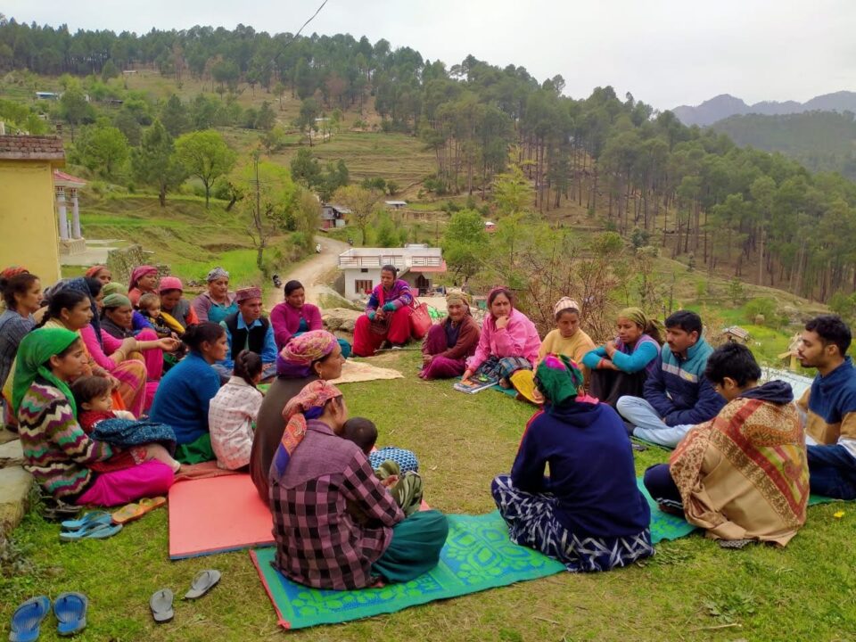
[(850, 111), (732, 116), (712, 128), (738, 145), (782, 152), (811, 171), (836, 171), (856, 180), (856, 121)]

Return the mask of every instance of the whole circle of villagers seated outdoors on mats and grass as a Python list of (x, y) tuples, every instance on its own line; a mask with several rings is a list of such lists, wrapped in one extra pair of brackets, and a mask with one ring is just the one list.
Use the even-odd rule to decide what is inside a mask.
[[(216, 460), (250, 474), (271, 508), (276, 565), (292, 580), (361, 588), (436, 564), (446, 518), (416, 510), (414, 454), (375, 452), (374, 424), (349, 416), (329, 382), (350, 344), (320, 327), (302, 286), (285, 284), (268, 319), (258, 288), (231, 294), (220, 268), (192, 302), (180, 281), (152, 270), (136, 268), (128, 292), (103, 266), (45, 293), (26, 270), (0, 274), (0, 380), (42, 488), (114, 506), (166, 492), (182, 465)], [(383, 268), (355, 355), (411, 338), (413, 297), (396, 276)], [(856, 373), (839, 317), (805, 326), (800, 358), (818, 375), (794, 404), (786, 383), (760, 384), (745, 346), (713, 350), (687, 310), (666, 319), (661, 349), (663, 331), (638, 308), (621, 310), (616, 338), (601, 347), (569, 298), (543, 341), (505, 287), (490, 291), (481, 328), (464, 292), (449, 292), (447, 308), (424, 337), (419, 376), (488, 374), (539, 406), (511, 473), (490, 490), (511, 538), (571, 571), (654, 552), (629, 435), (677, 447), (646, 471), (646, 488), (727, 546), (784, 546), (810, 490), (856, 498)]]

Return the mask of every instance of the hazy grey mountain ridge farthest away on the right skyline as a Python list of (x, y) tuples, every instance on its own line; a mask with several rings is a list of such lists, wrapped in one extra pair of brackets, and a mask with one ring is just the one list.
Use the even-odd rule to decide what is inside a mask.
[(722, 94), (704, 101), (696, 107), (680, 105), (671, 110), (684, 125), (707, 127), (717, 120), (744, 114), (784, 116), (803, 111), (853, 111), (856, 112), (856, 92), (840, 91), (835, 94), (819, 95), (806, 103), (796, 101), (763, 101), (748, 105), (733, 95)]

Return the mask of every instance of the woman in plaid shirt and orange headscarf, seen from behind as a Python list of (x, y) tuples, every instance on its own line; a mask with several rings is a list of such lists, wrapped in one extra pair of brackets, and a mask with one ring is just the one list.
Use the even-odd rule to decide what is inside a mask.
[(430, 510), (405, 518), (364, 452), (342, 439), (342, 392), (309, 383), (283, 416), (269, 477), (280, 572), (310, 587), (346, 590), (413, 580), (437, 565), (446, 516)]

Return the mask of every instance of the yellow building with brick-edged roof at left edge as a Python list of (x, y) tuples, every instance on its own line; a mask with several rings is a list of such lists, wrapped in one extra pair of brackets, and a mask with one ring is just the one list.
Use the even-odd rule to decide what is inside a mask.
[[(63, 193), (60, 214), (67, 213), (53, 169), (64, 164), (59, 136), (0, 136), (0, 266), (24, 266), (44, 285), (60, 279), (56, 190)], [(61, 223), (67, 231), (68, 218)]]

